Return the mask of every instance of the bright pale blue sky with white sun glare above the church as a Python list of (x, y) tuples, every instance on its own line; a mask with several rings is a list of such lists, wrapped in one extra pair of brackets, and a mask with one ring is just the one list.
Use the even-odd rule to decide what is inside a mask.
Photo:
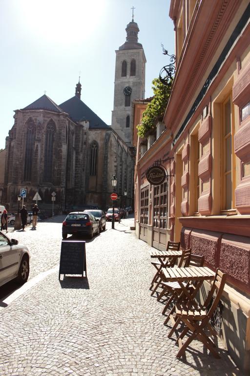
[(0, 0), (0, 149), (14, 110), (44, 93), (58, 105), (75, 95), (106, 124), (114, 101), (115, 50), (134, 21), (146, 55), (146, 93), (174, 53), (170, 0)]

